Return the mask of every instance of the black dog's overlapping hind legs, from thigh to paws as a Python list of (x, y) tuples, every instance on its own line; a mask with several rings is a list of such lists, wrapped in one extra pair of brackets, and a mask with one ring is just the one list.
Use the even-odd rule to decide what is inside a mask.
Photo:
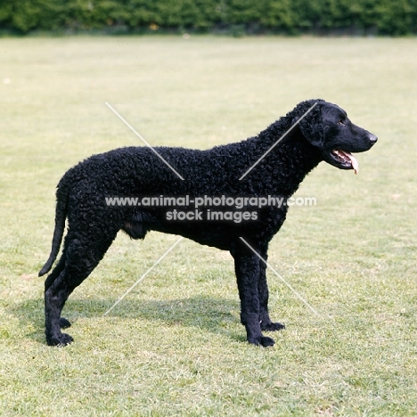
[(88, 236), (88, 241), (67, 236), (60, 262), (45, 281), (45, 336), (51, 346), (64, 346), (72, 342), (69, 334), (62, 333), (61, 327), (70, 322), (61, 318), (61, 311), (70, 293), (91, 274), (109, 249), (116, 233), (106, 238)]

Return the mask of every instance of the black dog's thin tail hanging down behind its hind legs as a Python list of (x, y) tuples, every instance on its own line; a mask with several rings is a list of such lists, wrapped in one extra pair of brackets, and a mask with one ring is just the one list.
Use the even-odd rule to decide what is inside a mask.
[(70, 194), (70, 176), (64, 176), (58, 188), (56, 190), (56, 208), (55, 208), (55, 229), (53, 231), (53, 242), (51, 254), (49, 255), (48, 260), (45, 262), (45, 265), (39, 271), (38, 276), (45, 275), (50, 271), (53, 266), (53, 262), (61, 248), (62, 236), (65, 229), (65, 220), (67, 218), (68, 212), (68, 199)]

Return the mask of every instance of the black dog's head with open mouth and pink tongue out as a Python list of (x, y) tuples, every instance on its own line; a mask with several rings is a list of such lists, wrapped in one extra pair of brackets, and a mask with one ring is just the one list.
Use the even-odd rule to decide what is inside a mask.
[[(301, 116), (298, 122), (307, 141), (321, 151), (323, 160), (339, 169), (358, 170), (357, 159), (352, 152), (364, 152), (378, 140), (376, 135), (354, 125), (345, 110), (323, 100), (310, 100), (299, 104)], [(303, 117), (304, 116), (304, 117)]]

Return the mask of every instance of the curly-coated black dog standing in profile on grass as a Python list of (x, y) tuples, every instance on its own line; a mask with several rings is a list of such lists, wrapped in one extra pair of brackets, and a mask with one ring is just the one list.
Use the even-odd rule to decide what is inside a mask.
[[(229, 250), (234, 258), (241, 323), (246, 327), (248, 341), (274, 345), (274, 339), (262, 331), (277, 331), (284, 326), (269, 318), (266, 265), (260, 258), (266, 260), (268, 242), (280, 229), (288, 207), (268, 205), (253, 210), (249, 199), (290, 198), (322, 160), (356, 171), (357, 161), (350, 152), (368, 151), (376, 141), (375, 135), (353, 125), (338, 106), (312, 100), (300, 102), (285, 117), (241, 143), (208, 151), (155, 148), (164, 160), (150, 148), (129, 147), (80, 162), (58, 184), (52, 251), (39, 273), (44, 275), (53, 266), (68, 218), (61, 259), (45, 281), (47, 343), (67, 345), (72, 341), (70, 335), (61, 333), (61, 328), (70, 326), (68, 320), (61, 318), (61, 310), (72, 290), (98, 265), (121, 229), (133, 239), (143, 239), (148, 231), (155, 230)], [(116, 196), (135, 196), (143, 201), (147, 197), (148, 202), (152, 196), (182, 201), (189, 196), (189, 200), (181, 207), (181, 217), (178, 210), (150, 204), (109, 204), (109, 199)], [(206, 204), (214, 198), (217, 202), (221, 198), (223, 202), (239, 198), (239, 208), (244, 208), (230, 207), (227, 202), (216, 208), (216, 217), (210, 217), (212, 207), (201, 212), (192, 207), (192, 201), (201, 201), (202, 196), (207, 196)]]

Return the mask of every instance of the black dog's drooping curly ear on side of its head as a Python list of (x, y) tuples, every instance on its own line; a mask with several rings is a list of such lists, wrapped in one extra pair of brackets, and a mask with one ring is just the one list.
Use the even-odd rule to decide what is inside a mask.
[(298, 106), (298, 116), (293, 119), (292, 123), (298, 124), (301, 133), (309, 143), (321, 148), (324, 143), (322, 100), (302, 102)]

